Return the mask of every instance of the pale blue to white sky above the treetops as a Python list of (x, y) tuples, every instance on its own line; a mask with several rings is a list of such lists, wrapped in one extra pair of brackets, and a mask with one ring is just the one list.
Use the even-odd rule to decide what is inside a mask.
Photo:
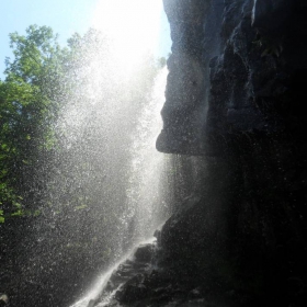
[[(162, 10), (162, 0), (0, 0), (0, 79), (3, 79), (5, 57), (12, 56), (9, 33), (16, 31), (24, 34), (31, 24), (50, 26), (59, 34), (62, 45), (75, 32), (83, 34), (94, 26), (111, 36), (122, 33), (125, 44), (124, 32), (134, 31), (137, 35), (135, 41), (130, 39), (130, 45), (135, 48), (150, 45), (155, 36), (159, 42), (158, 47), (155, 47), (157, 56), (167, 56), (170, 52), (169, 24)], [(158, 33), (148, 24), (151, 27), (155, 24), (159, 29)]]

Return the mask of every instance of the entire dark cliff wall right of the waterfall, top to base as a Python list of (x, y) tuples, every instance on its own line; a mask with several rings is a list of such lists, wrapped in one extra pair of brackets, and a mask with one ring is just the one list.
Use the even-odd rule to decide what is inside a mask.
[(156, 234), (157, 270), (122, 300), (306, 306), (307, 3), (163, 2), (173, 44), (157, 148), (184, 155), (192, 180)]

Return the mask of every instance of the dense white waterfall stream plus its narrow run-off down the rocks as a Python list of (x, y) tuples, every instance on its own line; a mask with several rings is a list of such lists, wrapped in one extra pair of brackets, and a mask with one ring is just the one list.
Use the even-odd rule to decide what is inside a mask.
[[(126, 201), (122, 215), (118, 217), (121, 220), (118, 234), (114, 236), (114, 239), (118, 240), (116, 254), (114, 255), (114, 259), (117, 260), (121, 257), (122, 259), (127, 258), (128, 255), (123, 258), (126, 250), (152, 237), (155, 228), (167, 217), (161, 216), (161, 213), (167, 213), (167, 211), (166, 200), (160, 194), (161, 175), (166, 166), (164, 157), (157, 152), (155, 148), (156, 138), (162, 124), (160, 110), (163, 104), (167, 73), (167, 68), (163, 68), (156, 77), (151, 92), (146, 93), (147, 103), (143, 104), (130, 136), (127, 182), (124, 183)], [(89, 294), (73, 307), (88, 306), (89, 302), (101, 293), (111, 273), (120, 262), (117, 261), (115, 265), (113, 264), (110, 270), (103, 273)]]

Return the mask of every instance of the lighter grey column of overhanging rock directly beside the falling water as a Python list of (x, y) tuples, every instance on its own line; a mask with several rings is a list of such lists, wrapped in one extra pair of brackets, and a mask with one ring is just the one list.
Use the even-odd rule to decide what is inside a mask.
[(164, 127), (157, 148), (164, 152), (196, 154), (203, 147), (206, 93), (203, 21), (209, 1), (164, 1), (164, 8), (173, 44), (168, 59), (167, 102), (161, 111)]

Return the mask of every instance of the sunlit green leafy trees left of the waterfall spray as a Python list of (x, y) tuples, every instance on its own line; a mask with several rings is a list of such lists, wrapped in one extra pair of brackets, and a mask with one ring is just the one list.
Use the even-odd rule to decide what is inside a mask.
[(10, 46), (14, 59), (7, 58), (5, 80), (0, 81), (0, 200), (4, 212), (21, 216), (15, 206), (31, 189), (29, 177), (33, 180), (42, 168), (39, 157), (56, 145), (53, 123), (67, 53), (47, 26), (31, 25), (25, 36), (10, 34)]

